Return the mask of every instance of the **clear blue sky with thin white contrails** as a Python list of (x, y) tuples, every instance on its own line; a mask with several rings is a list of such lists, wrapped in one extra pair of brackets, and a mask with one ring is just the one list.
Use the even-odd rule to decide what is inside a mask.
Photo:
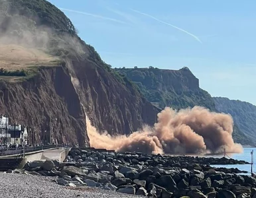
[(256, 105), (256, 1), (50, 0), (112, 67), (189, 67), (200, 87)]

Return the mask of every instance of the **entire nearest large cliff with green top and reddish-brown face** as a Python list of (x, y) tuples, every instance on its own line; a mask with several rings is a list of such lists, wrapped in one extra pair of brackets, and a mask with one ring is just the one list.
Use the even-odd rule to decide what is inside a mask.
[(110, 134), (157, 121), (160, 110), (104, 63), (54, 5), (1, 0), (0, 16), (0, 108), (12, 123), (33, 126), (38, 141), (39, 128), (48, 133), (50, 117), (57, 118), (51, 123), (58, 143), (79, 145), (89, 144), (86, 116)]

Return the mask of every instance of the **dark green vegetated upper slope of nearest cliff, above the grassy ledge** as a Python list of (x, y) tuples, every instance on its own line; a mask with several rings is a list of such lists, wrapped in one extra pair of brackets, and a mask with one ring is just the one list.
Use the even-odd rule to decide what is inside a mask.
[(32, 46), (62, 59), (89, 59), (124, 86), (131, 85), (102, 61), (94, 47), (79, 38), (71, 20), (48, 1), (0, 0), (0, 33), (7, 43), (11, 40)]

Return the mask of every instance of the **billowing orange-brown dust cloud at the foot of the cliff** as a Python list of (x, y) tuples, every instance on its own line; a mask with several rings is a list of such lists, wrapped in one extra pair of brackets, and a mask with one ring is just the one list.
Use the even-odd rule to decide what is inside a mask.
[(98, 149), (155, 154), (220, 153), (224, 148), (230, 153), (243, 150), (233, 142), (232, 117), (200, 106), (180, 111), (165, 108), (158, 114), (153, 128), (145, 126), (129, 136), (99, 134), (88, 117), (86, 124), (90, 144)]

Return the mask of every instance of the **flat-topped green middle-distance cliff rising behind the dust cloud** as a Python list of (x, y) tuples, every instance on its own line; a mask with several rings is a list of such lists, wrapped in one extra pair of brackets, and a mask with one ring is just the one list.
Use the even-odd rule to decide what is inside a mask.
[(198, 79), (187, 67), (180, 70), (153, 67), (115, 70), (135, 82), (145, 97), (160, 108), (170, 106), (180, 110), (204, 106), (215, 110), (214, 100), (199, 87)]

